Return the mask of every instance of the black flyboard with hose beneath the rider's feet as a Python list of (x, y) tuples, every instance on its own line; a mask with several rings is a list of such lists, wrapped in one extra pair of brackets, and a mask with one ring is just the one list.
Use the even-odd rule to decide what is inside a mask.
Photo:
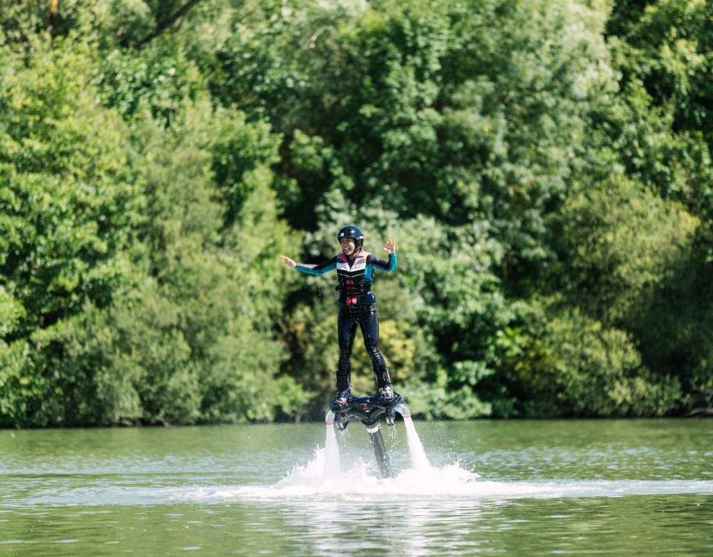
[(394, 474), (391, 473), (389, 454), (386, 452), (384, 438), (381, 436), (380, 420), (384, 418), (387, 425), (394, 426), (397, 412), (404, 419), (411, 418), (411, 411), (399, 393), (395, 392), (394, 400), (387, 403), (380, 402), (377, 395), (369, 397), (352, 397), (350, 395), (345, 404), (329, 403), (324, 423), (327, 426), (334, 424), (340, 431), (345, 431), (354, 419), (361, 421), (366, 427), (366, 433), (369, 434), (371, 448), (374, 449), (374, 458), (379, 466), (379, 475), (382, 478), (391, 478)]

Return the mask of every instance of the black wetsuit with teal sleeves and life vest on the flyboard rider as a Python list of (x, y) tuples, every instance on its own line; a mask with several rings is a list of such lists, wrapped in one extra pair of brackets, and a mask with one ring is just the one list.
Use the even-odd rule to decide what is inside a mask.
[(377, 386), (390, 385), (389, 369), (386, 369), (386, 362), (379, 351), (379, 317), (376, 315), (376, 297), (371, 292), (371, 281), (374, 279), (376, 269), (384, 271), (396, 269), (396, 254), (389, 254), (389, 260), (385, 261), (364, 251), (351, 259), (344, 253), (339, 253), (319, 265), (298, 263), (295, 269), (310, 275), (323, 275), (325, 272), (337, 270), (339, 280), (337, 390), (348, 389), (351, 384), (352, 347), (357, 326), (361, 328), (361, 334), (364, 336), (364, 347), (371, 359), (371, 369), (374, 369)]

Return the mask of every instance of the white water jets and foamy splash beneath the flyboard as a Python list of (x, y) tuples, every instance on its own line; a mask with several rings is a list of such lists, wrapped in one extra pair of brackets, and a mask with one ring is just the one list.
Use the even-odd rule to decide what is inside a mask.
[[(232, 489), (188, 491), (181, 499), (244, 499), (289, 501), (414, 501), (418, 499), (498, 499), (558, 497), (612, 497), (643, 494), (711, 493), (712, 481), (488, 481), (461, 468), (431, 466), (410, 415), (404, 417), (411, 467), (395, 477), (381, 479), (369, 461), (345, 463), (339, 455), (337, 432), (327, 424), (324, 448), (314, 451), (305, 466), (294, 466), (274, 486), (237, 486)], [(392, 429), (389, 429), (393, 432)]]

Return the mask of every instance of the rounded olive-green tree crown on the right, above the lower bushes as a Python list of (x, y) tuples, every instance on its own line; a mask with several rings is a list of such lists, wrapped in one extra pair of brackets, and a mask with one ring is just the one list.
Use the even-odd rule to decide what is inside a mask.
[(689, 257), (700, 221), (637, 183), (612, 178), (572, 195), (560, 215), (561, 291), (607, 325), (631, 326)]

